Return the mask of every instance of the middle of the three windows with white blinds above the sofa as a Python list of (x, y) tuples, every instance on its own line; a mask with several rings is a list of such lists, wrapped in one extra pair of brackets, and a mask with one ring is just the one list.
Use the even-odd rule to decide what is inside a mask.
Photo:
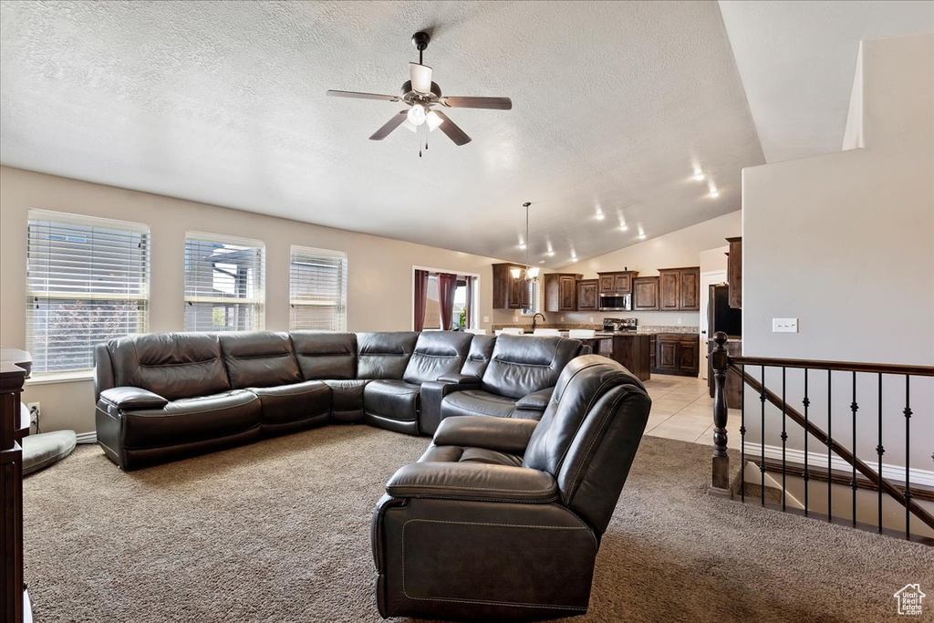
[(263, 324), (262, 242), (185, 236), (185, 331), (259, 331)]

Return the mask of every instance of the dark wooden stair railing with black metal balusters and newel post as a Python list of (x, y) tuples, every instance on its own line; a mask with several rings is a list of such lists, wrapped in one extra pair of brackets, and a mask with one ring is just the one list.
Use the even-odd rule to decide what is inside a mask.
[[(785, 417), (789, 418), (791, 421), (797, 423), (801, 428), (804, 429), (804, 481), (805, 481), (805, 513), (807, 513), (807, 481), (809, 478), (808, 474), (808, 465), (807, 465), (807, 439), (808, 435), (814, 436), (817, 441), (823, 444), (828, 448), (828, 469), (830, 469), (831, 461), (829, 457), (830, 451), (839, 456), (842, 460), (846, 461), (853, 468), (853, 479), (851, 481), (851, 487), (853, 488), (853, 523), (856, 525), (856, 472), (863, 474), (879, 491), (879, 521), (878, 521), (878, 531), (883, 531), (882, 525), (882, 493), (886, 493), (893, 500), (900, 503), (906, 512), (905, 517), (905, 536), (906, 538), (911, 538), (910, 530), (910, 515), (917, 517), (923, 523), (925, 523), (929, 528), (934, 529), (934, 516), (932, 516), (927, 509), (920, 506), (918, 503), (914, 502), (912, 499), (911, 492), (911, 480), (910, 480), (910, 471), (908, 469), (909, 458), (910, 458), (910, 446), (911, 446), (911, 435), (910, 435), (910, 420), (913, 415), (910, 403), (909, 403), (909, 379), (912, 376), (934, 376), (934, 367), (932, 366), (921, 366), (921, 365), (895, 365), (895, 364), (876, 364), (876, 363), (854, 363), (847, 361), (810, 361), (810, 360), (794, 360), (794, 359), (769, 359), (769, 358), (756, 358), (756, 357), (730, 357), (727, 352), (726, 343), (727, 335), (724, 333), (716, 333), (714, 336), (715, 348), (711, 353), (711, 364), (714, 370), (714, 383), (715, 383), (715, 392), (714, 392), (714, 459), (713, 459), (713, 476), (712, 476), (712, 487), (711, 492), (729, 496), (729, 455), (727, 454), (727, 419), (729, 416), (728, 405), (727, 405), (727, 392), (726, 392), (726, 379), (727, 372), (732, 372), (739, 376), (741, 379), (741, 396), (743, 397), (743, 419), (744, 407), (745, 407), (745, 389), (744, 386), (749, 386), (759, 395), (759, 399), (764, 405), (766, 401), (770, 404), (776, 406), (782, 410), (783, 414), (783, 429), (782, 429), (782, 450), (783, 450), (783, 485), (785, 478), (785, 440), (787, 439), (787, 434), (785, 432)], [(756, 365), (760, 366), (763, 371), (763, 380), (764, 380), (764, 371), (765, 368), (781, 368), (782, 369), (782, 378), (783, 378), (783, 396), (777, 395), (771, 389), (765, 388), (761, 382), (753, 375), (749, 375), (745, 372), (744, 367), (746, 365)], [(784, 397), (784, 383), (785, 383), (785, 369), (794, 368), (794, 369), (803, 369), (805, 374), (804, 380), (804, 400), (802, 403), (805, 408), (805, 415), (801, 415), (798, 410), (789, 406)], [(906, 420), (906, 482), (905, 490), (902, 491), (899, 487), (896, 487), (887, 479), (882, 477), (879, 473), (873, 470), (868, 463), (863, 460), (860, 460), (856, 457), (855, 453), (850, 449), (842, 446), (837, 440), (835, 440), (829, 432), (824, 432), (819, 427), (814, 425), (808, 416), (807, 408), (810, 404), (808, 395), (807, 395), (807, 372), (811, 370), (826, 370), (828, 374), (831, 372), (849, 372), (853, 373), (853, 392), (854, 399), (853, 403), (850, 404), (850, 409), (853, 411), (854, 417), (854, 440), (856, 438), (856, 410), (858, 405), (856, 404), (856, 373), (868, 373), (879, 375), (879, 398), (880, 404), (882, 404), (882, 375), (900, 375), (905, 376), (905, 387), (906, 387), (906, 404), (903, 410), (903, 415)], [(829, 376), (828, 376), (829, 384)], [(829, 395), (829, 385), (828, 385), (828, 395)], [(764, 407), (763, 407), (763, 422), (764, 422)], [(828, 406), (828, 422), (832, 423), (832, 420), (829, 416), (829, 406)], [(829, 428), (828, 428), (829, 431)], [(745, 433), (744, 425), (741, 428), (741, 433)], [(762, 432), (762, 446), (764, 450), (764, 437), (765, 433)], [(882, 455), (884, 453), (884, 447), (882, 446), (882, 412), (880, 411), (879, 419), (879, 446), (876, 447), (876, 451), (879, 457), (880, 469), (882, 467)], [(745, 444), (743, 439), (743, 446), (741, 450), (742, 461), (744, 462), (745, 454)], [(765, 468), (765, 457), (761, 457), (761, 464), (759, 466), (763, 478), (766, 471)], [(829, 486), (828, 486), (829, 487)], [(764, 490), (763, 490), (764, 496)], [(764, 504), (764, 499), (763, 499)], [(784, 510), (784, 495), (783, 495), (783, 510)], [(829, 501), (829, 490), (828, 490), (828, 518), (832, 519), (832, 513), (830, 508)]]

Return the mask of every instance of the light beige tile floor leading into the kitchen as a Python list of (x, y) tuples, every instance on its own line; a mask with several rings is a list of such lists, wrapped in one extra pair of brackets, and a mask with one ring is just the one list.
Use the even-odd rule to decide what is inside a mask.
[[(645, 434), (714, 445), (714, 399), (707, 381), (694, 376), (652, 375), (645, 381), (652, 397)], [(739, 439), (740, 412), (730, 409), (727, 436)]]

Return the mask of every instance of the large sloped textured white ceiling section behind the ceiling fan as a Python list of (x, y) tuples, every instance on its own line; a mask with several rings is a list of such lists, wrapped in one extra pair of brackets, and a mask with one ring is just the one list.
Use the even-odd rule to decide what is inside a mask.
[[(419, 160), (367, 140), (399, 104), (324, 92), (397, 92), (423, 28), (446, 94), (514, 108)], [(531, 201), (552, 267), (739, 209), (763, 162), (715, 2), (3, 2), (0, 36), (2, 163), (515, 260)]]

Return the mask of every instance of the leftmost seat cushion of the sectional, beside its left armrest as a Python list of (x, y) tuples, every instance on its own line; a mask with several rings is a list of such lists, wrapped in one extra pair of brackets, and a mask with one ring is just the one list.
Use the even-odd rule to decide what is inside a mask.
[(179, 446), (233, 435), (259, 427), (260, 414), (260, 399), (243, 389), (182, 398), (162, 409), (124, 413), (123, 447)]

